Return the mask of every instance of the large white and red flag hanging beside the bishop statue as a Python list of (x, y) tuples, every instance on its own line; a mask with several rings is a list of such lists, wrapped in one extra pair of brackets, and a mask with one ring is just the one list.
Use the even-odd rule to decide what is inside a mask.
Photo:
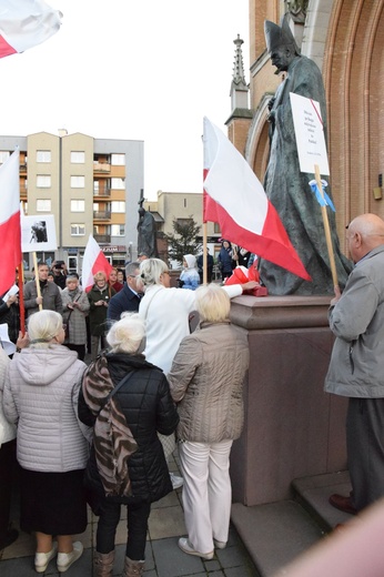
[(223, 237), (311, 281), (257, 176), (223, 132), (204, 118), (204, 215)]

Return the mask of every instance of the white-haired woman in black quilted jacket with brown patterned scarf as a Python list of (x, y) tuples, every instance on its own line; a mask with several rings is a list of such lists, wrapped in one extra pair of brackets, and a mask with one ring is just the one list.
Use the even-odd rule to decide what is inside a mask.
[[(114, 323), (107, 335), (111, 350), (90, 365), (79, 398), (80, 419), (94, 425), (102, 401), (124, 379), (111, 401), (118, 424), (113, 431), (115, 458), (110, 454), (109, 432), (101, 439), (94, 433), (85, 475), (92, 508), (100, 515), (94, 559), (94, 575), (99, 577), (113, 574), (114, 535), (122, 504), (128, 508), (123, 577), (142, 575), (151, 503), (172, 490), (158, 433), (171, 435), (179, 415), (165, 375), (141, 354), (144, 335), (144, 321), (138, 314), (127, 314)], [(94, 432), (99, 428), (95, 426)], [(119, 476), (115, 486), (113, 476)]]

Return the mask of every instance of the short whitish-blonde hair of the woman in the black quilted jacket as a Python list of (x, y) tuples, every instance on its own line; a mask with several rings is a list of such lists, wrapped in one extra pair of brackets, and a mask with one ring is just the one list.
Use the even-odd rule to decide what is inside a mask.
[(145, 336), (145, 321), (138, 313), (123, 313), (110, 328), (107, 341), (112, 353), (133, 354)]

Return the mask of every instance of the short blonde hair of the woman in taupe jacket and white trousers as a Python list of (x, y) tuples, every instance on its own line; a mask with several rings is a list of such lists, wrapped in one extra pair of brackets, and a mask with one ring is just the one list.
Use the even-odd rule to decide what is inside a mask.
[(231, 301), (221, 286), (213, 283), (199, 286), (194, 294), (201, 321), (221, 323), (229, 318)]

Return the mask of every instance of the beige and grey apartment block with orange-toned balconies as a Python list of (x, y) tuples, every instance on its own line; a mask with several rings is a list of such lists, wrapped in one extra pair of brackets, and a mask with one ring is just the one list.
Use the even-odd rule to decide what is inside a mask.
[[(109, 261), (123, 266), (137, 255), (138, 202), (143, 190), (142, 141), (39, 132), (0, 136), (0, 164), (20, 150), (20, 200), (24, 213), (53, 214), (58, 249), (38, 261), (63, 260), (81, 272), (90, 234)], [(31, 255), (24, 254), (26, 272)]]

